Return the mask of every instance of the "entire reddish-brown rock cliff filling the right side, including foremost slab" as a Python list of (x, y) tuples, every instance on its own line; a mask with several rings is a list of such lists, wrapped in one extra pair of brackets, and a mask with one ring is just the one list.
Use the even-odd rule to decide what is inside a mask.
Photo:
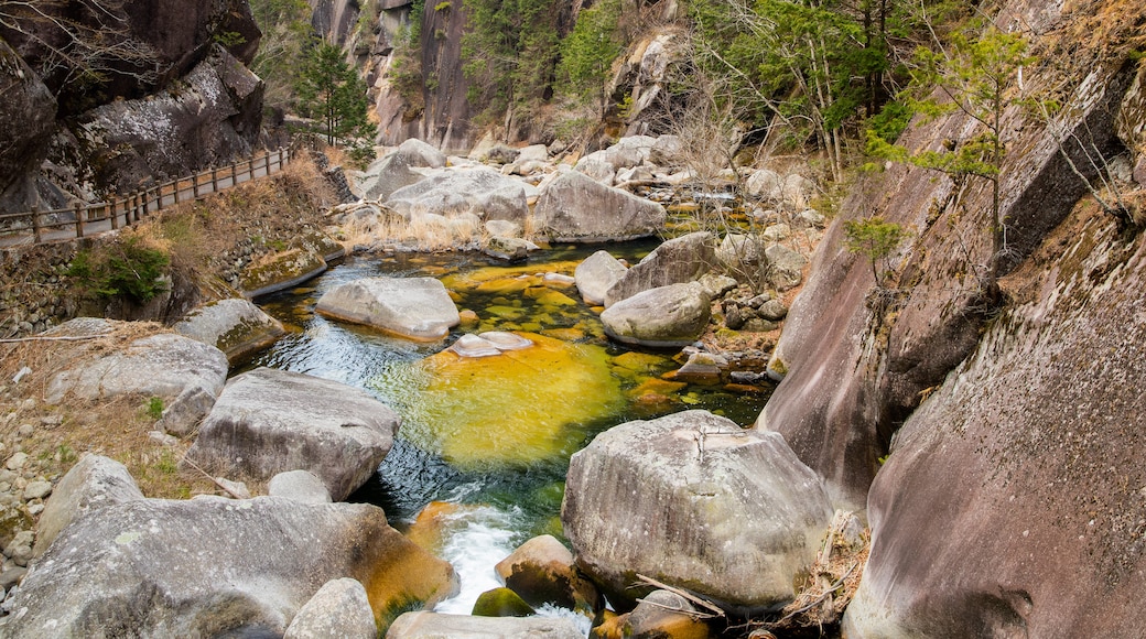
[[(1146, 72), (1131, 55), (1146, 9), (1034, 5), (1011, 2), (998, 22), (1038, 56), (1022, 90), (1063, 108), (1051, 121), (1005, 117), (1003, 302), (976, 277), (991, 252), (989, 186), (894, 166), (845, 203), (777, 347), (787, 376), (760, 421), (838, 502), (869, 508), (853, 639), (1118, 637), (1146, 624)], [(937, 150), (972, 131), (949, 117), (901, 141)], [(1132, 220), (1090, 197), (1104, 180)], [(841, 245), (842, 221), (870, 214), (915, 234), (882, 293)]]

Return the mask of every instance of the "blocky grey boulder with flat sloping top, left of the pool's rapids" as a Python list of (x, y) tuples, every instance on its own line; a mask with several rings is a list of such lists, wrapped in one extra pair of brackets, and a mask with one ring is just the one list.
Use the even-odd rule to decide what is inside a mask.
[(309, 471), (340, 500), (377, 471), (400, 423), (364, 391), (260, 368), (227, 384), (187, 459), (212, 475), (256, 481)]

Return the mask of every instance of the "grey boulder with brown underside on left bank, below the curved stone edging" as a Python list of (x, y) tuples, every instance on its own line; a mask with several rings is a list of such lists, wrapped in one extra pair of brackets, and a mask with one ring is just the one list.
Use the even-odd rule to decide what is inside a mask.
[(242, 298), (196, 308), (172, 328), (183, 337), (219, 348), (230, 362), (270, 346), (286, 333), (282, 322)]

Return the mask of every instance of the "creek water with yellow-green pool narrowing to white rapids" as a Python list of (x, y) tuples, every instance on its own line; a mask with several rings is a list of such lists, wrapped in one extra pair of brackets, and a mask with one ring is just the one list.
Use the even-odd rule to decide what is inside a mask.
[[(610, 244), (636, 263), (652, 242)], [(289, 333), (243, 366), (272, 366), (363, 388), (402, 417), (394, 447), (351, 500), (382, 506), (392, 526), (449, 561), (461, 593), (438, 612), (469, 614), (496, 587), (494, 565), (526, 539), (564, 538), (559, 520), (570, 456), (612, 426), (689, 408), (747, 425), (768, 391), (737, 394), (661, 376), (675, 353), (641, 352), (604, 337), (572, 275), (602, 246), (558, 246), (524, 265), (473, 253), (352, 257), (305, 286), (259, 300)], [(480, 324), (434, 344), (408, 341), (314, 313), (327, 290), (361, 277), (437, 277)], [(535, 345), (463, 360), (444, 349), (470, 332), (513, 331)], [(240, 371), (235, 371), (240, 372)]]

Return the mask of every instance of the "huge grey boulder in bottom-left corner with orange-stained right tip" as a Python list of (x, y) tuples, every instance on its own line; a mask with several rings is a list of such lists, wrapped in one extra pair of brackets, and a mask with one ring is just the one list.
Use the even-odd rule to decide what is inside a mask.
[(456, 589), (453, 569), (368, 504), (139, 499), (74, 521), (0, 618), (6, 637), (281, 637), (331, 579), (376, 621)]

